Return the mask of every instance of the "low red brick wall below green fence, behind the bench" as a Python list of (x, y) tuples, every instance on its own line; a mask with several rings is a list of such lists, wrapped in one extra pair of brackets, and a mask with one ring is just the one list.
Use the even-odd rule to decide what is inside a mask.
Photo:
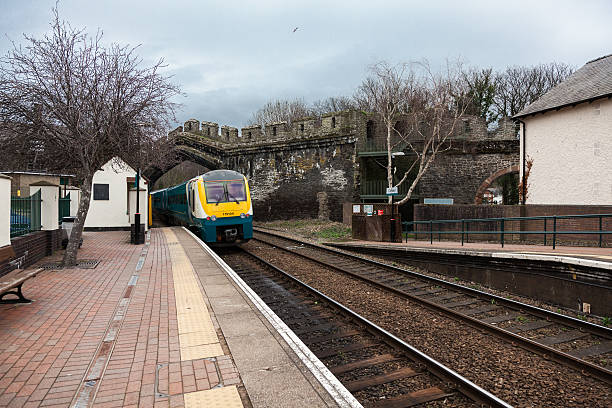
[[(21, 264), (22, 268), (33, 265), (47, 255), (61, 248), (61, 230), (37, 231), (11, 239), (11, 245), (15, 251), (15, 258), (25, 255)], [(27, 252), (27, 254), (26, 254)], [(0, 263), (0, 276), (15, 269), (9, 264), (9, 260)]]

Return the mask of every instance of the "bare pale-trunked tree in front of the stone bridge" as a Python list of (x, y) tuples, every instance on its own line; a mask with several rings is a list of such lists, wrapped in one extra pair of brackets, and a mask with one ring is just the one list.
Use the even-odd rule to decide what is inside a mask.
[[(446, 71), (438, 74), (426, 61), (411, 66), (382, 62), (372, 66), (371, 76), (355, 94), (360, 108), (377, 113), (386, 127), (388, 186), (411, 182), (399, 205), (410, 200), (433, 160), (448, 148), (448, 139), (469, 106), (465, 96), (463, 103), (457, 103), (457, 95), (466, 94), (461, 75), (459, 64), (447, 64)], [(402, 122), (407, 125), (400, 126)], [(394, 184), (392, 164), (398, 148), (408, 150), (407, 157), (412, 162)]]

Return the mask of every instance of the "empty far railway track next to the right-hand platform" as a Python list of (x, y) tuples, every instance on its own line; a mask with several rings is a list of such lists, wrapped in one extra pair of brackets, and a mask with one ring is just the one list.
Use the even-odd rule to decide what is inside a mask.
[(255, 239), (612, 384), (612, 330), (606, 327), (270, 232), (257, 230)]

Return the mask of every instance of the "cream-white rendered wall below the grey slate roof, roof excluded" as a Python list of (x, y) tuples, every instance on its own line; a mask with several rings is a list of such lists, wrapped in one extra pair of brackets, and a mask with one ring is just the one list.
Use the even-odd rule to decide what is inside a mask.
[(527, 204), (612, 204), (612, 100), (523, 118), (533, 166)]

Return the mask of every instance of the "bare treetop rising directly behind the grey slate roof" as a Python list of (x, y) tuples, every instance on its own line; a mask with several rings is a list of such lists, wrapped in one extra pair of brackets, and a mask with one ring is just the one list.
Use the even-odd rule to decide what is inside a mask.
[(514, 66), (497, 74), (495, 108), (498, 116), (514, 116), (570, 76), (574, 69), (552, 62), (533, 67)]

